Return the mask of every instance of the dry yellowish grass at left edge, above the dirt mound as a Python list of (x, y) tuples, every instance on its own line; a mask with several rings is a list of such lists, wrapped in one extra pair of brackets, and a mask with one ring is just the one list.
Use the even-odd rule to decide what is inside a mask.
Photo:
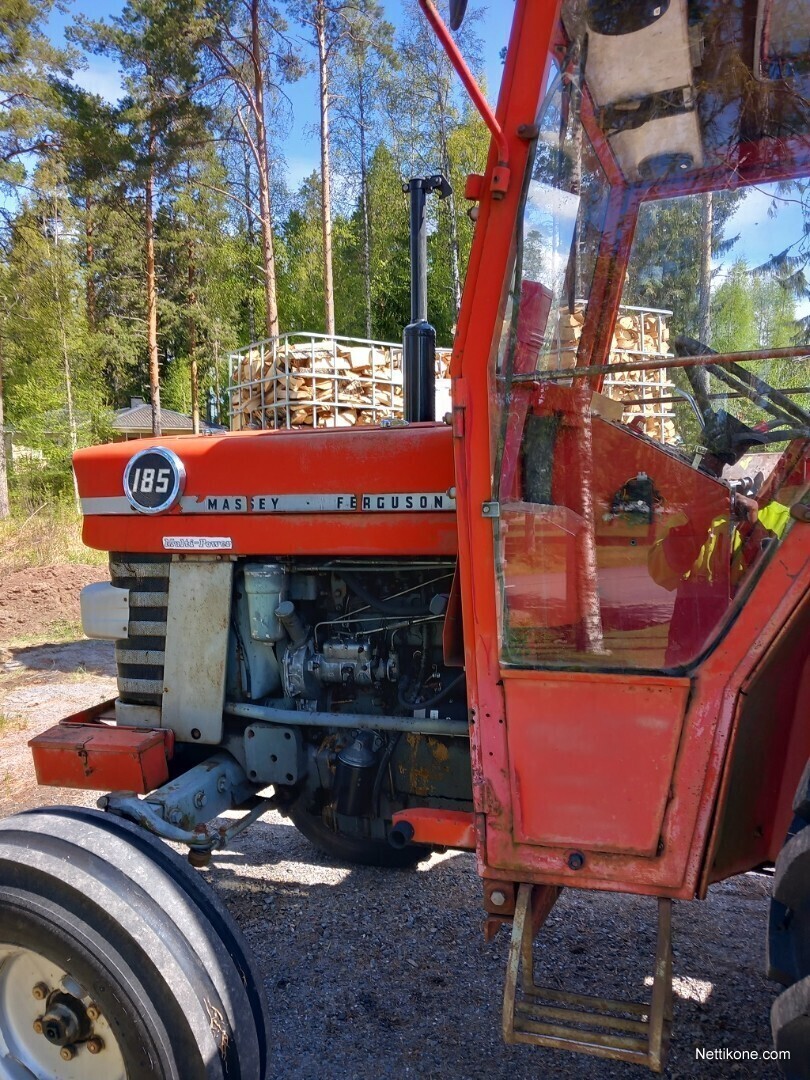
[(0, 572), (65, 563), (104, 566), (107, 553), (85, 548), (81, 528), (81, 515), (68, 503), (43, 504), (0, 522)]

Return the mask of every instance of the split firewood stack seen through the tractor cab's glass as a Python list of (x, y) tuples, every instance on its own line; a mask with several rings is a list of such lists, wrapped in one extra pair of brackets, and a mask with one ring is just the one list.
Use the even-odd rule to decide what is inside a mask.
[[(649, 311), (620, 309), (613, 340), (610, 346), (609, 364), (633, 362), (643, 356), (660, 360), (670, 353), (670, 330), (666, 315)], [(585, 321), (583, 308), (572, 312), (568, 308), (559, 310), (557, 326), (553, 332), (552, 349), (545, 368), (573, 367), (577, 350)], [(648, 402), (646, 399), (672, 396), (672, 381), (662, 369), (620, 372), (605, 378), (604, 393), (613, 401), (636, 399), (625, 404), (622, 420), (659, 442), (675, 441), (675, 416), (671, 403)]]

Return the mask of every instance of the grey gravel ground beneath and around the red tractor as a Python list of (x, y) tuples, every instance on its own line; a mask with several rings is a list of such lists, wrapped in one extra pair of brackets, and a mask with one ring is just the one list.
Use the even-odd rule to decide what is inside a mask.
[[(0, 814), (93, 793), (37, 788), (25, 743), (114, 693), (97, 643), (0, 651)], [(268, 814), (204, 872), (255, 950), (273, 1024), (273, 1080), (544, 1080), (643, 1077), (637, 1066), (500, 1037), (508, 934), (486, 945), (472, 855), (417, 870), (347, 868)], [(778, 1077), (765, 1062), (697, 1061), (696, 1048), (764, 1051), (775, 987), (762, 975), (769, 881), (758, 875), (675, 906), (675, 1025), (666, 1075)], [(536, 946), (550, 985), (649, 996), (654, 902), (564, 894)]]

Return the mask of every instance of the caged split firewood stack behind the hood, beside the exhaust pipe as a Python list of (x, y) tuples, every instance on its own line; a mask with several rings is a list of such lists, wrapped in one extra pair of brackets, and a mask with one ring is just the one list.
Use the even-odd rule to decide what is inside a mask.
[[(449, 350), (437, 350), (436, 380)], [(402, 347), (281, 338), (232, 357), (231, 430), (353, 428), (403, 415)]]

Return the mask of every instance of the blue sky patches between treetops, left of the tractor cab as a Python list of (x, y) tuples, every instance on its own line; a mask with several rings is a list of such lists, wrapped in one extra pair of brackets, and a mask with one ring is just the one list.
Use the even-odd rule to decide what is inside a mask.
[[(64, 28), (71, 21), (71, 12), (81, 12), (92, 18), (104, 18), (117, 14), (121, 6), (120, 0), (93, 0), (93, 2), (75, 0), (67, 14), (57, 11), (53, 13), (50, 24), (52, 38), (55, 42), (63, 43)], [(402, 0), (383, 0), (383, 6), (390, 22), (394, 26), (401, 26), (406, 4)], [(476, 32), (484, 44), (489, 94), (490, 97), (495, 97), (501, 77), (499, 54), (507, 44), (513, 5), (509, 0), (490, 0), (489, 4), (482, 0), (471, 0), (469, 12), (471, 14), (480, 12), (482, 16), (476, 25)], [(109, 100), (116, 99), (121, 86), (116, 65), (103, 56), (89, 56), (86, 69), (77, 71), (76, 81)], [(286, 133), (283, 149), (287, 162), (287, 184), (291, 190), (295, 190), (306, 176), (320, 167), (318, 138), (313, 131), (318, 123), (315, 76), (310, 75), (287, 87), (287, 93), (293, 105), (295, 127)]]

